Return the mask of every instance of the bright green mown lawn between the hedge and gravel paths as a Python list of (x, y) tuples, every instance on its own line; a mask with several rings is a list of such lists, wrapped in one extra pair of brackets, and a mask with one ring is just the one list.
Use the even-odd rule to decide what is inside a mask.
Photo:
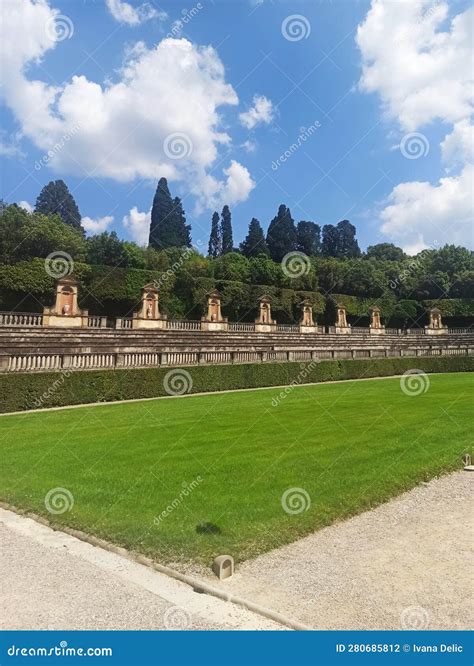
[[(2, 416), (0, 499), (161, 562), (239, 561), (459, 468), (473, 377), (429, 380), (418, 396), (375, 379), (298, 386), (278, 406), (271, 388)], [(57, 487), (74, 505), (53, 515)], [(295, 487), (311, 505), (288, 514)]]

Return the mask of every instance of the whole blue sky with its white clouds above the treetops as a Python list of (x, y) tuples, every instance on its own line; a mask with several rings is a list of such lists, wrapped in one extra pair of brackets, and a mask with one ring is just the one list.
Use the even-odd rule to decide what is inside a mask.
[(285, 203), (351, 220), (362, 247), (469, 245), (469, 11), (6, 0), (0, 195), (34, 204), (63, 178), (90, 232), (143, 241), (165, 175), (202, 247), (224, 203), (236, 242)]

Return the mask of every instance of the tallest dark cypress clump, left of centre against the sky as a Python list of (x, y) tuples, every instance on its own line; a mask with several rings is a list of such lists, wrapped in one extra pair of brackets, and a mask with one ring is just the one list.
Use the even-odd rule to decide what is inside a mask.
[(179, 197), (172, 199), (166, 178), (160, 178), (153, 198), (149, 244), (156, 250), (189, 247), (190, 226)]

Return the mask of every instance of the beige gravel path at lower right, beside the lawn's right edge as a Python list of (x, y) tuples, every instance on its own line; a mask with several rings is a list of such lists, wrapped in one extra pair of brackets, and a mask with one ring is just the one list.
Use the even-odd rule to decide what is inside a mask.
[(316, 629), (471, 629), (473, 482), (422, 484), (244, 563), (226, 589)]

